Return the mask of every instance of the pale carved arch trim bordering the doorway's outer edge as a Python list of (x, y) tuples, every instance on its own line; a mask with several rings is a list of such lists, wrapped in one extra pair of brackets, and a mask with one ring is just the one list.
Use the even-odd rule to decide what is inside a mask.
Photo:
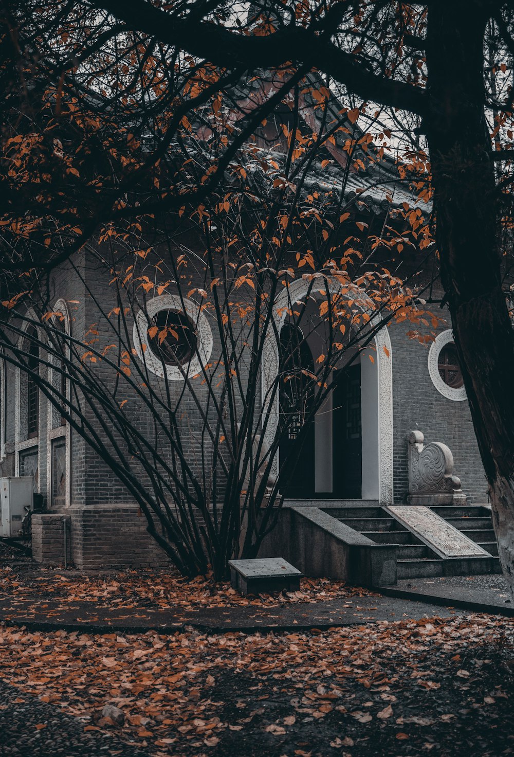
[[(327, 286), (328, 284), (328, 286)], [(295, 279), (288, 287), (280, 292), (273, 307), (273, 316), (276, 322), (277, 332), (280, 333), (291, 304), (301, 301), (309, 291), (310, 282), (306, 279)], [(328, 291), (327, 291), (328, 289)], [(319, 279), (314, 283), (311, 292), (326, 292), (323, 296), (337, 295), (341, 292), (341, 285), (334, 279)], [(357, 297), (354, 292), (350, 295), (354, 304)], [(369, 312), (366, 302), (358, 306), (363, 313)], [(382, 320), (379, 313), (370, 320), (373, 322)], [(390, 505), (394, 502), (393, 491), (393, 360), (391, 350), (391, 338), (387, 328), (381, 329), (374, 338), (376, 357), (378, 364), (378, 499), (382, 505)], [(385, 347), (385, 349), (384, 349)], [(387, 350), (387, 353), (386, 351)], [(261, 400), (263, 405), (262, 421), (266, 416), (266, 403), (269, 406), (268, 393), (273, 388), (276, 375), (279, 370), (279, 347), (276, 342), (273, 329), (268, 328), (263, 345), (263, 370), (261, 375)], [(276, 428), (279, 424), (279, 396), (278, 391), (269, 407), (269, 420), (266, 425), (264, 438), (266, 443), (273, 444)], [(278, 453), (273, 461), (273, 474), (277, 474), (279, 468)]]

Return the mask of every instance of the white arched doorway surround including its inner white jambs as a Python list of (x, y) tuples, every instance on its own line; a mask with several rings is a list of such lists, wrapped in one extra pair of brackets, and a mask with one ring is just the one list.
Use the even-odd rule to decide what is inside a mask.
[[(318, 279), (314, 285), (307, 279), (297, 279), (279, 294), (273, 309), (277, 332), (288, 318), (291, 306), (303, 301), (308, 291), (323, 296), (338, 295), (341, 285), (335, 279)], [(356, 294), (352, 293), (355, 302)], [(366, 305), (360, 308), (366, 312)], [(381, 316), (375, 315), (372, 324)], [(388, 329), (383, 328), (374, 337), (374, 349), (368, 348), (360, 355), (360, 412), (361, 412), (361, 497), (363, 500), (378, 500), (382, 505), (393, 503), (393, 381), (391, 340)], [(369, 360), (372, 357), (372, 360)], [(279, 422), (279, 399), (269, 397), (279, 371), (279, 352), (273, 329), (266, 334), (263, 349), (262, 402), (268, 413), (264, 438), (272, 444)], [(332, 408), (331, 399), (316, 414), (315, 466), (316, 491), (331, 491), (332, 477)], [(266, 413), (263, 413), (263, 418)], [(278, 468), (278, 455), (275, 471)]]

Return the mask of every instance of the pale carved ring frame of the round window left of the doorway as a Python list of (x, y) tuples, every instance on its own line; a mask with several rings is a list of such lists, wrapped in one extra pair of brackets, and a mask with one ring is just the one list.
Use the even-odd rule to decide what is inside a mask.
[[(160, 310), (176, 310), (185, 313), (195, 324), (197, 336), (197, 350), (192, 359), (182, 366), (170, 366), (158, 357), (152, 350), (148, 341), (143, 340), (143, 335), (148, 331), (148, 322), (151, 321)], [(164, 369), (170, 381), (183, 381), (184, 378), (192, 378), (201, 373), (201, 369), (209, 362), (213, 350), (213, 332), (210, 330), (207, 318), (201, 312), (198, 305), (192, 300), (182, 300), (173, 294), (161, 294), (154, 297), (146, 304), (146, 310), (139, 310), (132, 328), (132, 341), (136, 354), (145, 366), (160, 378), (164, 378)], [(145, 349), (142, 345), (145, 344)]]

